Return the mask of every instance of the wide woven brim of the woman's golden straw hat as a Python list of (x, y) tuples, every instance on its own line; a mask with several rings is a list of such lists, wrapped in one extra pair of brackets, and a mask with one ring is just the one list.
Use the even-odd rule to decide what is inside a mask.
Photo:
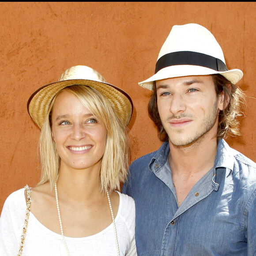
[(27, 110), (40, 129), (45, 122), (49, 105), (54, 96), (63, 88), (72, 85), (85, 85), (101, 92), (117, 110), (120, 120), (125, 126), (128, 125), (133, 111), (132, 99), (128, 94), (109, 83), (86, 79), (71, 79), (47, 84), (30, 96), (27, 102)]

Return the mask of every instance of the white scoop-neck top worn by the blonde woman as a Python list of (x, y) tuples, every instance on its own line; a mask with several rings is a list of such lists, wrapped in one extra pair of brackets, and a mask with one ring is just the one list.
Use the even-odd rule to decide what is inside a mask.
[[(135, 203), (132, 197), (121, 194), (115, 218), (120, 256), (136, 256)], [(33, 200), (33, 198), (32, 198)], [(8, 196), (0, 217), (0, 255), (15, 256), (21, 241), (25, 220), (26, 200), (24, 188)], [(116, 256), (113, 223), (89, 237), (65, 237), (70, 256)], [(67, 256), (60, 234), (54, 233), (30, 212), (23, 247), (23, 256)]]

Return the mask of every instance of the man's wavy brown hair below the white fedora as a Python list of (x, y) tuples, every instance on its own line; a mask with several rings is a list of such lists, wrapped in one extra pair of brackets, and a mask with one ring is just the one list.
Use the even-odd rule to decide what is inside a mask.
[[(218, 132), (217, 138), (225, 139), (228, 135), (237, 136), (239, 132), (239, 120), (237, 117), (243, 116), (242, 107), (246, 105), (244, 92), (231, 83), (223, 75), (211, 75), (216, 95), (221, 94), (224, 91), (224, 102), (226, 102), (226, 108), (219, 112), (218, 117)], [(154, 124), (158, 128), (158, 137), (161, 141), (168, 141), (168, 134), (166, 133), (157, 107), (157, 93), (156, 84), (153, 83), (152, 95), (148, 103), (148, 115), (154, 121)]]

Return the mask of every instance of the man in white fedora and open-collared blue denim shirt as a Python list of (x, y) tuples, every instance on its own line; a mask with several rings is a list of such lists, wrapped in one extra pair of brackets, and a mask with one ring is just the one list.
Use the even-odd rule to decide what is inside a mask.
[(173, 26), (148, 111), (164, 143), (130, 167), (139, 256), (255, 256), (256, 164), (223, 138), (239, 133), (241, 70), (226, 68), (203, 26)]

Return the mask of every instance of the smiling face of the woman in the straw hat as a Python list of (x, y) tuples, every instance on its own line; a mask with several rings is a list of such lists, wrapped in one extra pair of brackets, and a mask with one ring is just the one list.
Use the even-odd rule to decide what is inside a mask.
[(100, 168), (107, 130), (79, 99), (68, 91), (57, 95), (52, 109), (52, 138), (61, 168)]

